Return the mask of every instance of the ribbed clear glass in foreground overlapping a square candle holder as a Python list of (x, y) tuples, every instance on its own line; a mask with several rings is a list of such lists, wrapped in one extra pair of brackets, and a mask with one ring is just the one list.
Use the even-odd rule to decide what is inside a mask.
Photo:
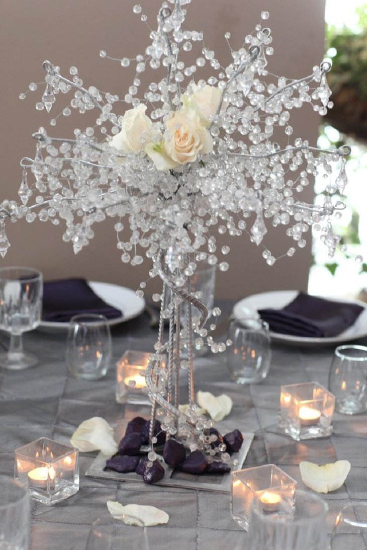
[(326, 550), (327, 509), (322, 498), (306, 491), (296, 491), (294, 514), (288, 517), (266, 513), (260, 500), (253, 500), (248, 550)]

